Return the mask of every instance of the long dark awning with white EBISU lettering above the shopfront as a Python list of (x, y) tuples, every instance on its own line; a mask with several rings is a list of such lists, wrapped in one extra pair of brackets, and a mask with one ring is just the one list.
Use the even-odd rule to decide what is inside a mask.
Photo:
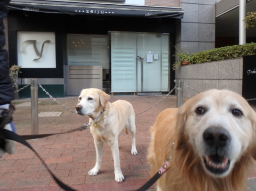
[(11, 1), (9, 9), (59, 14), (81, 14), (101, 16), (134, 16), (145, 18), (174, 18), (182, 19), (180, 8), (113, 5), (97, 3), (76, 3), (56, 1)]

